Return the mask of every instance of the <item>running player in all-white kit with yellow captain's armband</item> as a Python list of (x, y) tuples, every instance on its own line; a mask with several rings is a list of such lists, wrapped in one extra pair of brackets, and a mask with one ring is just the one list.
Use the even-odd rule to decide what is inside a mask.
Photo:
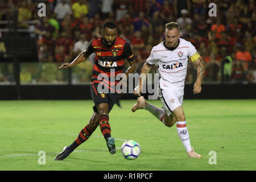
[(141, 96), (145, 77), (140, 77), (138, 86), (134, 89), (134, 94), (141, 96), (131, 109), (133, 112), (138, 109), (150, 111), (156, 118), (171, 127), (176, 122), (177, 134), (183, 143), (189, 157), (201, 158), (201, 155), (191, 147), (189, 140), (186, 119), (182, 107), (184, 95), (184, 82), (187, 75), (188, 57), (197, 65), (197, 78), (193, 86), (193, 93), (201, 92), (201, 82), (204, 75), (204, 60), (201, 59), (195, 47), (184, 39), (180, 38), (179, 25), (170, 22), (166, 25), (165, 40), (153, 47), (150, 57), (143, 65), (142, 73), (147, 75), (153, 65), (158, 63), (160, 75), (159, 98), (163, 103), (163, 109), (149, 104)]

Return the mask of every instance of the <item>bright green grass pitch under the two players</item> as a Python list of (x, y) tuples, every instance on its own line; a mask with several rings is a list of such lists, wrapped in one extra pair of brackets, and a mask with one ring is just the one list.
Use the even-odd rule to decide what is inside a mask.
[[(256, 170), (255, 100), (184, 100), (191, 144), (201, 159), (188, 158), (176, 125), (166, 127), (146, 110), (132, 113), (134, 103), (121, 100), (122, 109), (115, 105), (110, 113), (117, 154), (109, 154), (97, 128), (68, 158), (55, 161), (88, 123), (93, 101), (0, 101), (0, 170)], [(130, 139), (142, 148), (135, 160), (126, 160), (120, 150)], [(38, 163), (39, 151), (46, 152), (46, 164)], [(216, 152), (216, 164), (209, 164), (210, 151)]]

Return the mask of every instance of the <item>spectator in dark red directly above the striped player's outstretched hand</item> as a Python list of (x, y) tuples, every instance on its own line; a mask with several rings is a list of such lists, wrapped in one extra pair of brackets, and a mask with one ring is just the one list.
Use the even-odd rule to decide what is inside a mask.
[(57, 62), (71, 61), (73, 56), (73, 40), (63, 31), (55, 43), (55, 59)]

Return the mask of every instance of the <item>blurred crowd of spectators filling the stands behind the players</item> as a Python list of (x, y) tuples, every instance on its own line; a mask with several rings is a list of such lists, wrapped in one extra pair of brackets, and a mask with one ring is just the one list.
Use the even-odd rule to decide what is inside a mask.
[[(46, 4), (42, 18), (40, 2)], [(216, 17), (208, 14), (211, 2)], [(225, 81), (255, 83), (255, 7), (254, 0), (0, 0), (0, 20), (10, 19), (6, 10), (18, 9), (18, 28), (32, 30), (28, 36), (37, 38), (38, 60), (44, 63), (72, 61), (90, 40), (101, 38), (102, 23), (113, 20), (118, 36), (131, 44), (138, 73), (152, 47), (164, 40), (164, 24), (177, 22), (181, 38), (205, 60), (205, 82), (220, 81), (222, 69)], [(195, 64), (189, 63), (186, 79), (196, 80)]]

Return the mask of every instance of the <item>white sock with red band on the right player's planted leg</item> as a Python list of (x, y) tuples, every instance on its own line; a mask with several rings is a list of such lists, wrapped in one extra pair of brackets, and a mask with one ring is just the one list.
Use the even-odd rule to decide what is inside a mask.
[(177, 121), (177, 134), (179, 135), (181, 142), (183, 143), (183, 146), (185, 149), (188, 151), (192, 150), (190, 140), (189, 140), (189, 135), (188, 135), (188, 129), (186, 126), (186, 121)]

